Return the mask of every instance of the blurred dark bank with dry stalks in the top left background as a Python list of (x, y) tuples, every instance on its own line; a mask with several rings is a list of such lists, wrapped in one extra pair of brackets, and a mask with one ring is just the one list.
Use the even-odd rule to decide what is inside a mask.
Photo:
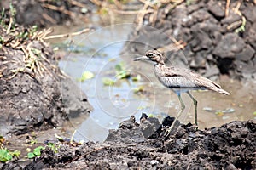
[(88, 20), (93, 9), (90, 1), (37, 1), (3, 0), (0, 7), (10, 10), (12, 4), (15, 11), (15, 20), (23, 26), (37, 25), (49, 27), (54, 25), (70, 25), (73, 20)]

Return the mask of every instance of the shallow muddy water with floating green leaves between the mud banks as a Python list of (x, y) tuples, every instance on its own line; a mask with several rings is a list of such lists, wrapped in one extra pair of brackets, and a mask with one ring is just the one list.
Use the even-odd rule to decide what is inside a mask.
[[(73, 28), (73, 31), (76, 29)], [(130, 116), (136, 116), (139, 120), (142, 112), (160, 120), (167, 115), (176, 116), (179, 110), (177, 95), (158, 82), (154, 77), (153, 65), (133, 62), (134, 55), (119, 54), (131, 29), (131, 24), (108, 26), (64, 42), (69, 44), (66, 48), (68, 54), (59, 65), (67, 75), (73, 77), (94, 107), (90, 116), (71, 118), (70, 125), (77, 130), (74, 139), (103, 141), (108, 136), (108, 129), (117, 128), (119, 122)], [(119, 80), (116, 65), (123, 65), (131, 76), (141, 75), (141, 79)], [(94, 77), (79, 82), (84, 71), (92, 72)], [(114, 81), (113, 86), (104, 85), (106, 78)], [(193, 92), (198, 100), (200, 128), (220, 126), (234, 120), (256, 119), (255, 82), (238, 82), (228, 77), (221, 77), (217, 82), (231, 95)], [(139, 87), (143, 92), (137, 94), (135, 91)], [(194, 122), (193, 103), (187, 94), (182, 97), (186, 110), (180, 121)]]

